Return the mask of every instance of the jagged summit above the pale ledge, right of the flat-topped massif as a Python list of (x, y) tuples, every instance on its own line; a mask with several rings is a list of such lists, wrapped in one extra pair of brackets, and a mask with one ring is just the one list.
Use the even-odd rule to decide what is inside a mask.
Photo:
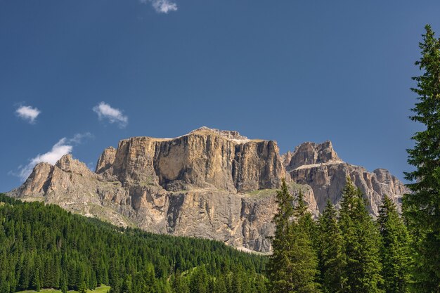
[(302, 143), (285, 157), (284, 164), (287, 171), (297, 169), (304, 165), (342, 162), (342, 159), (339, 159), (333, 149), (331, 141), (324, 141), (323, 143)]

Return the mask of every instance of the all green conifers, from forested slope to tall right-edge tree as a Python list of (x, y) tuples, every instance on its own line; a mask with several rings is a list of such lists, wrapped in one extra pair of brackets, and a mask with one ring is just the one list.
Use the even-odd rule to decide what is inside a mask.
[(425, 27), (415, 64), (418, 103), (402, 212), (384, 196), (377, 219), (351, 178), (338, 209), (313, 219), (302, 193), (283, 181), (273, 218), (273, 254), (221, 242), (153, 235), (0, 195), (0, 293), (43, 288), (86, 292), (439, 293), (440, 39)]

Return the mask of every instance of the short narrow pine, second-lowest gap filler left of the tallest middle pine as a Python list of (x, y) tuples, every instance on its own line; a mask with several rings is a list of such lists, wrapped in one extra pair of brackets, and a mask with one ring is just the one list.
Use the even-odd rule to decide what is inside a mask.
[(344, 242), (337, 223), (337, 211), (328, 200), (319, 217), (318, 259), (321, 282), (325, 293), (344, 292), (344, 267), (346, 266)]

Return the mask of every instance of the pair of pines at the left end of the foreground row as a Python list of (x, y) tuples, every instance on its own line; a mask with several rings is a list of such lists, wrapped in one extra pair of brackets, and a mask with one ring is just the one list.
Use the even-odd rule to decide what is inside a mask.
[(319, 292), (315, 282), (318, 270), (316, 252), (311, 242), (314, 223), (306, 211), (302, 193), (297, 204), (283, 181), (277, 192), (278, 209), (273, 217), (276, 232), (272, 238), (273, 254), (268, 263), (270, 292)]

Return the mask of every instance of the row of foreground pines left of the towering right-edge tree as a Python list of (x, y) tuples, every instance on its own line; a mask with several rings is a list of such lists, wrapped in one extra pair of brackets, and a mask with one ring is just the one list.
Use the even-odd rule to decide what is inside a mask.
[(270, 292), (408, 292), (410, 236), (389, 197), (377, 221), (350, 178), (339, 212), (327, 202), (318, 221), (285, 181), (277, 201)]

